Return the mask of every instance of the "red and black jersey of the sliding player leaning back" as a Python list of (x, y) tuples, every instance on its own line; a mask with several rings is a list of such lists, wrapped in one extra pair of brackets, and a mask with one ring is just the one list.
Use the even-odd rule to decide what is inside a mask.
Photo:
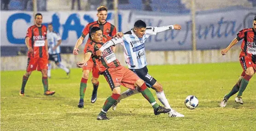
[(102, 56), (97, 56), (96, 51), (99, 50), (99, 48), (106, 43), (107, 41), (111, 40), (112, 38), (106, 35), (103, 35), (103, 41), (102, 43), (96, 43), (94, 41), (91, 41), (88, 43), (87, 51), (92, 53), (92, 59), (96, 67), (99, 69), (99, 73), (104, 72), (108, 68), (115, 68), (117, 66), (120, 66), (120, 62), (116, 59), (116, 55), (114, 54), (111, 47), (105, 49), (102, 52)]

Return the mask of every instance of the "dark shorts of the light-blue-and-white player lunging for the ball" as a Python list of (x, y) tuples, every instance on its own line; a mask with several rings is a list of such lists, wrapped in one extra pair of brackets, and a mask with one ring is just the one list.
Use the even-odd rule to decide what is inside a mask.
[(140, 79), (142, 79), (145, 83), (147, 87), (152, 87), (157, 80), (155, 78), (153, 78), (151, 75), (148, 74), (148, 69), (147, 66), (141, 68), (141, 69), (130, 69), (131, 71), (133, 71), (135, 74), (137, 74)]

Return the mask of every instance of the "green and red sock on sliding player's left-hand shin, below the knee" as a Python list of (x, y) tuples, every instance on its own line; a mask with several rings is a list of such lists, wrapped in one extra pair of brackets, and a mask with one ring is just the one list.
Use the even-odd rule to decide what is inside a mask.
[(99, 115), (107, 113), (115, 101), (120, 97), (120, 94), (112, 93), (112, 95), (105, 101)]

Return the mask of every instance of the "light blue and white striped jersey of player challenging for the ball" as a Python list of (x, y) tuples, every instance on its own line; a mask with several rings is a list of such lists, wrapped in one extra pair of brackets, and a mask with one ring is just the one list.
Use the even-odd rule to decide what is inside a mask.
[(145, 54), (145, 40), (151, 35), (157, 34), (155, 27), (146, 27), (145, 35), (138, 38), (133, 30), (124, 33), (120, 43), (124, 49), (125, 62), (129, 69), (141, 69), (147, 66)]

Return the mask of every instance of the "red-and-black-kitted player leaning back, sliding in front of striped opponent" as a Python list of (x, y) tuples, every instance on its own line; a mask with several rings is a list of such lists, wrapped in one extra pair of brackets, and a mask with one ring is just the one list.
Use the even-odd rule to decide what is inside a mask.
[(97, 120), (109, 120), (106, 116), (106, 112), (120, 97), (121, 85), (130, 89), (135, 89), (134, 86), (137, 86), (140, 90), (140, 93), (142, 93), (144, 98), (146, 98), (152, 105), (155, 115), (159, 115), (160, 113), (167, 113), (170, 111), (170, 109), (165, 109), (164, 107), (157, 104), (155, 98), (146, 87), (145, 82), (142, 79), (140, 79), (134, 72), (120, 65), (111, 46), (102, 50), (104, 55), (101, 55), (101, 53), (101, 56), (96, 55), (97, 50), (99, 50), (103, 43), (111, 40), (111, 37), (103, 35), (99, 27), (92, 27), (90, 29), (90, 37), (92, 42), (88, 44), (88, 48), (83, 57), (83, 60), (78, 62), (77, 66), (81, 68), (90, 58), (92, 58), (95, 66), (99, 70), (99, 73), (105, 76), (105, 79), (109, 83), (112, 90), (112, 95), (106, 99), (105, 104), (103, 105), (103, 108), (97, 117)]

